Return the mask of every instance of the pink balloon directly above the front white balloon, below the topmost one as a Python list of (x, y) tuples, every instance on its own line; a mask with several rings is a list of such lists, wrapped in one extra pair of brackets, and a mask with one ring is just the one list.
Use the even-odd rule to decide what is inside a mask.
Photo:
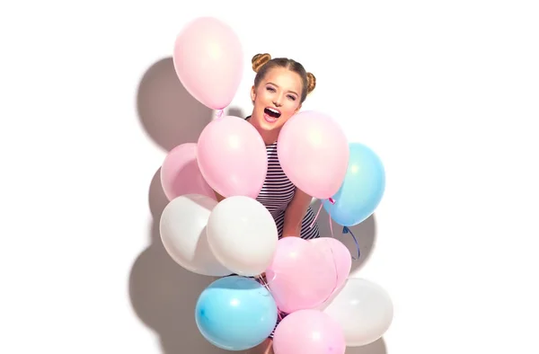
[(213, 190), (225, 198), (256, 199), (268, 172), (266, 145), (245, 119), (225, 116), (212, 120), (199, 137), (200, 172)]

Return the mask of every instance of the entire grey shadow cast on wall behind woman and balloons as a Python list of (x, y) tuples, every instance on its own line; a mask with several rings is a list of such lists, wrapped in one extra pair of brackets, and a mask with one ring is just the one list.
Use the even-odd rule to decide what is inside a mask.
[[(137, 95), (139, 118), (155, 143), (167, 152), (173, 147), (196, 142), (202, 129), (211, 121), (213, 111), (196, 101), (181, 85), (174, 71), (172, 58), (165, 58), (151, 66), (144, 75)], [(229, 115), (245, 117), (243, 111), (230, 108)], [(149, 207), (153, 217), (149, 226), (150, 245), (134, 262), (129, 276), (129, 297), (135, 313), (158, 336), (163, 354), (200, 353), (224, 354), (206, 341), (195, 323), (194, 309), (199, 294), (216, 278), (204, 277), (184, 270), (163, 248), (159, 234), (159, 220), (168, 204), (157, 170), (149, 187)], [(319, 204), (318, 204), (319, 205)], [(317, 208), (315, 204), (314, 208)], [(323, 235), (329, 234), (325, 211), (320, 215)], [(326, 231), (327, 229), (327, 231)], [(334, 226), (339, 237), (342, 227)], [(361, 259), (355, 261), (357, 269), (372, 249), (375, 235), (374, 219), (352, 229), (362, 246)], [(353, 252), (353, 241), (343, 243)], [(351, 243), (350, 243), (351, 242)], [(237, 353), (254, 353), (255, 350)], [(349, 348), (349, 354), (385, 354), (384, 341), (365, 347)]]

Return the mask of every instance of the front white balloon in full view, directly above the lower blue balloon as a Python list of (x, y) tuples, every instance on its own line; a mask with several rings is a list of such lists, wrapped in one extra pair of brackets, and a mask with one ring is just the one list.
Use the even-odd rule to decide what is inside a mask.
[(246, 277), (266, 271), (277, 250), (278, 230), (270, 211), (246, 196), (219, 202), (209, 216), (207, 232), (216, 259)]

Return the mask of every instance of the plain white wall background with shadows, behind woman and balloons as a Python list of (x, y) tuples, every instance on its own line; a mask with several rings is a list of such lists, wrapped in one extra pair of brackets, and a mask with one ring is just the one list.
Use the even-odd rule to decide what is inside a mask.
[(164, 156), (212, 116), (172, 68), (200, 15), (243, 42), (229, 113), (249, 113), (254, 54), (295, 58), (318, 79), (305, 108), (384, 161), (354, 276), (394, 320), (348, 353), (539, 352), (536, 2), (32, 3), (0, 5), (0, 352), (221, 352), (193, 319), (211, 279), (155, 226)]

